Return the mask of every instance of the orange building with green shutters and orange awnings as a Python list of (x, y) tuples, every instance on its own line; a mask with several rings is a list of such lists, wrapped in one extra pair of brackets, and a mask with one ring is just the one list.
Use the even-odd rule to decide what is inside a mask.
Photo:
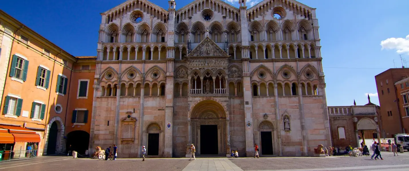
[(76, 131), (88, 148), (95, 59), (70, 55), (0, 10), (1, 160), (63, 153)]

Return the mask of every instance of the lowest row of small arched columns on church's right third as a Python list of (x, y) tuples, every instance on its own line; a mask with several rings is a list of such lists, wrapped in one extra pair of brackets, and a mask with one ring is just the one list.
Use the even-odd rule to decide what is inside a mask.
[[(318, 86), (311, 83), (252, 83), (252, 96), (314, 96)], [(230, 94), (231, 95), (231, 94)]]

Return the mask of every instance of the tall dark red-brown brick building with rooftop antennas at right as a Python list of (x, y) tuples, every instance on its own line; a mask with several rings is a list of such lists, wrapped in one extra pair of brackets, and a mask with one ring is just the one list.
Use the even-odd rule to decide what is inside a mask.
[[(382, 138), (392, 138), (393, 134), (403, 133), (403, 119), (405, 118), (402, 117), (407, 115), (405, 110), (400, 107), (403, 98), (401, 92), (406, 90), (407, 83), (400, 81), (407, 78), (408, 75), (409, 68), (391, 68), (375, 76), (381, 106)], [(398, 81), (399, 83), (396, 84)]]

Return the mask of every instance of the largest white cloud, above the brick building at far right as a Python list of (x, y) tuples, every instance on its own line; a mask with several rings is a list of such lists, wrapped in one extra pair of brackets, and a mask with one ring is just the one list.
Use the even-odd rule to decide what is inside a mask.
[(407, 53), (409, 55), (409, 35), (405, 38), (391, 37), (381, 41), (382, 49), (396, 49), (396, 53)]

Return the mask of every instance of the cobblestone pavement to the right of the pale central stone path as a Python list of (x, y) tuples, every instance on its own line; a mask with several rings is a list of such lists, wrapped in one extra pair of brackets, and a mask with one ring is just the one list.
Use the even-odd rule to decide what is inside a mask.
[[(365, 169), (363, 166), (380, 166), (377, 168), (388, 169), (388, 167), (381, 168), (382, 165), (402, 165), (409, 164), (409, 154), (403, 154), (399, 156), (393, 156), (392, 153), (381, 153), (384, 160), (371, 160), (371, 156), (339, 156), (339, 157), (326, 157), (326, 158), (312, 158), (312, 157), (294, 157), (294, 158), (234, 158), (229, 159), (244, 171), (255, 170), (282, 170), (282, 169), (322, 169), (323, 168), (338, 168), (339, 170), (360, 170)], [(342, 168), (345, 167), (345, 168)], [(349, 167), (349, 169), (348, 169)], [(361, 168), (351, 168), (361, 167)], [(400, 167), (397, 167), (398, 169)], [(405, 168), (405, 167), (403, 167)], [(406, 166), (409, 168), (409, 165)], [(374, 170), (372, 168), (370, 170)], [(333, 169), (331, 169), (333, 170)], [(334, 169), (335, 170), (335, 169)], [(409, 170), (409, 169), (407, 169)], [(301, 170), (299, 170), (301, 171)]]

